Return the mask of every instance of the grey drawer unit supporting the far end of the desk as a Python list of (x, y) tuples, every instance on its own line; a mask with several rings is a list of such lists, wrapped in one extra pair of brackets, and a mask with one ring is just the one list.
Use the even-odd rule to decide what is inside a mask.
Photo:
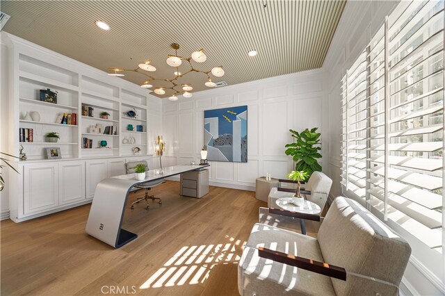
[(201, 198), (209, 192), (209, 170), (181, 174), (181, 195)]

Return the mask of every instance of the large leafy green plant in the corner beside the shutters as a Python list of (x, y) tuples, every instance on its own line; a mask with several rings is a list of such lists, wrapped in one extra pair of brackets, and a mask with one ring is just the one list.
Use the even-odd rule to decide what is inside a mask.
[(296, 162), (295, 170), (298, 172), (306, 172), (310, 177), (313, 172), (321, 172), (321, 165), (318, 163), (317, 158), (321, 158), (321, 154), (318, 151), (321, 150), (320, 136), (321, 133), (317, 133), (318, 127), (314, 129), (305, 129), (301, 133), (289, 129), (292, 133), (292, 137), (296, 138), (296, 142), (287, 144), (285, 147), (286, 155), (293, 157), (293, 161)]

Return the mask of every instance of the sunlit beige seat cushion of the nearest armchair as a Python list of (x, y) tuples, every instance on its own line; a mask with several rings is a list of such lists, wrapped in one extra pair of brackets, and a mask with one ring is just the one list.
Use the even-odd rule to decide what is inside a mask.
[[(238, 265), (240, 295), (277, 295), (283, 289), (291, 295), (335, 295), (330, 277), (289, 265), (270, 264), (259, 258), (257, 247), (324, 261), (316, 238), (257, 223), (243, 250), (244, 261)], [(243, 271), (248, 265), (250, 268)], [(246, 274), (250, 276), (244, 282)]]

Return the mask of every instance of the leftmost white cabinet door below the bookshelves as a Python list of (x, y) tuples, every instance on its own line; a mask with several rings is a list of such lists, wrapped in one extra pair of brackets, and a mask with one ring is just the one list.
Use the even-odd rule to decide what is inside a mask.
[(58, 206), (58, 163), (24, 165), (24, 214)]

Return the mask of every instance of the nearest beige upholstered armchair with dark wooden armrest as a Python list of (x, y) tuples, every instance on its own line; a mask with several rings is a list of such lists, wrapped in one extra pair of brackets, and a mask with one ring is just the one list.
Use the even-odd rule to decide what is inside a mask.
[(411, 248), (363, 206), (337, 197), (317, 238), (254, 225), (240, 295), (397, 295)]

